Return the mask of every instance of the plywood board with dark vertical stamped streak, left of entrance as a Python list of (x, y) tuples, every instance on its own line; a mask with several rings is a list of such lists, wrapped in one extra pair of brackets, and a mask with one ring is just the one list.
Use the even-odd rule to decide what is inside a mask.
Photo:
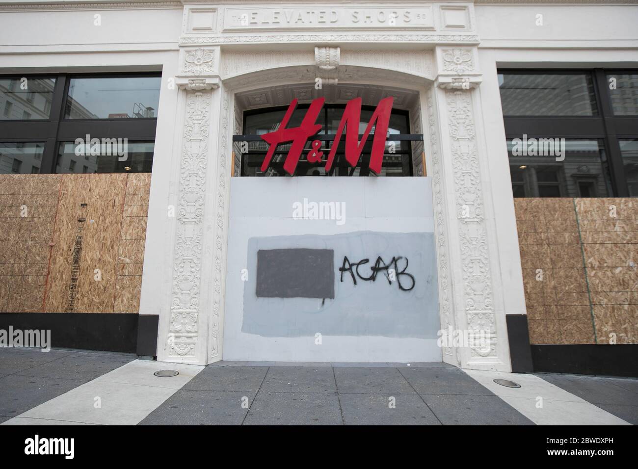
[(46, 311), (113, 311), (127, 178), (126, 174), (64, 175)]

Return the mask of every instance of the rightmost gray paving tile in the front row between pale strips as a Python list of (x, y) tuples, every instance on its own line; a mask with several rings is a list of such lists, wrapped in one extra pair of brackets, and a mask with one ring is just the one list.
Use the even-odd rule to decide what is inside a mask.
[(443, 425), (533, 425), (498, 396), (422, 396)]

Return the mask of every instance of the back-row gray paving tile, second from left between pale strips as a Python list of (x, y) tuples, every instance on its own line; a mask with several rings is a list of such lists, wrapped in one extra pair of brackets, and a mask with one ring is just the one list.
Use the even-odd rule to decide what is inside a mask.
[(261, 392), (336, 392), (332, 368), (269, 368)]

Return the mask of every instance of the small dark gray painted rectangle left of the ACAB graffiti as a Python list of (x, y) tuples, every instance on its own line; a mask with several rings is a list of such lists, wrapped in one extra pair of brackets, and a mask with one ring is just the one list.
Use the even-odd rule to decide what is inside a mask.
[(259, 249), (259, 298), (334, 298), (332, 249)]

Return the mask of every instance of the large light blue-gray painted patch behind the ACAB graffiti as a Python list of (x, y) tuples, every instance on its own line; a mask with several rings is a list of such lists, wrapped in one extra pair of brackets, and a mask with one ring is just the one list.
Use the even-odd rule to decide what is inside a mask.
[[(258, 271), (260, 251), (301, 249), (334, 251), (332, 298), (258, 297), (255, 292), (259, 274), (249, 276), (243, 285), (242, 332), (288, 338), (315, 336), (319, 332), (323, 336), (436, 339), (440, 318), (433, 233), (360, 231), (252, 237), (248, 241), (248, 271)], [(338, 269), (345, 257), (350, 263), (369, 259), (360, 265), (356, 285), (350, 272), (345, 272), (341, 281)], [(386, 271), (378, 272), (374, 281), (365, 280), (371, 278), (371, 267), (378, 257), (385, 264), (390, 264), (393, 257), (401, 257), (397, 268), (401, 272), (408, 265), (405, 272), (413, 276), (413, 288), (401, 290), (399, 282), (390, 281)], [(323, 276), (316, 272), (313, 280), (323, 284)], [(412, 286), (406, 276), (401, 281), (404, 288)]]

